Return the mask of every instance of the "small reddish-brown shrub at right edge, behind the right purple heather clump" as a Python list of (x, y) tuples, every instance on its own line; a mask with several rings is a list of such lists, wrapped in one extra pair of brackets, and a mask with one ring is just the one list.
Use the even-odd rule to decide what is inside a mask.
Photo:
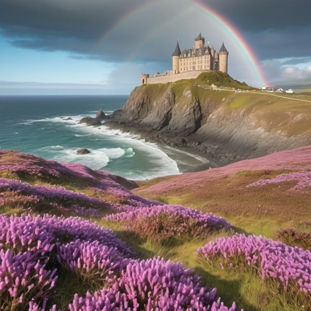
[(274, 238), (293, 247), (311, 249), (311, 233), (309, 231), (296, 232), (295, 228), (280, 229)]

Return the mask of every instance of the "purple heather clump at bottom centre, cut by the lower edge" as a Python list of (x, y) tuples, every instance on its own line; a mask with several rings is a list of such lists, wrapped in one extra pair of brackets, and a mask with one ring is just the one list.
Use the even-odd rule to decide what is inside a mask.
[(69, 310), (235, 310), (235, 304), (227, 308), (215, 296), (216, 289), (201, 287), (200, 278), (182, 263), (153, 258), (129, 262), (108, 290), (75, 295)]

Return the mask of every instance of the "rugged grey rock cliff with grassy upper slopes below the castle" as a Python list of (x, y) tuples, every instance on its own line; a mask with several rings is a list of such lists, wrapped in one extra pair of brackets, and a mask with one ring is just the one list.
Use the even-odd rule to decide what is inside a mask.
[(233, 162), (311, 145), (309, 100), (214, 91), (182, 80), (135, 88), (109, 126)]

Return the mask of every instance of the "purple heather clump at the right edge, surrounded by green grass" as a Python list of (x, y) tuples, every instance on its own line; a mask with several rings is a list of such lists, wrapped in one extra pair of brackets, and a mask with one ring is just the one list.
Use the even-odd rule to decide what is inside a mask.
[(262, 280), (276, 279), (286, 290), (294, 283), (299, 290), (311, 293), (311, 252), (293, 248), (282, 242), (268, 240), (261, 236), (236, 234), (232, 238), (223, 237), (198, 248), (197, 256), (204, 255), (207, 260), (222, 258), (226, 264), (232, 258), (240, 257), (248, 265), (261, 271)]

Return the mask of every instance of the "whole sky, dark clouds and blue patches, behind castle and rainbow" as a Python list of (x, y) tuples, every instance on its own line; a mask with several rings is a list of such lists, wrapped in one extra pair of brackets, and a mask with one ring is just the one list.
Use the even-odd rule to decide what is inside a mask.
[[(207, 3), (244, 35), (271, 84), (310, 84), (311, 21), (306, 11), (311, 4), (254, 0), (246, 6), (245, 1)], [(114, 27), (146, 2), (151, 5)], [(139, 85), (141, 72), (171, 69), (177, 37), (181, 49), (191, 48), (200, 27), (216, 50), (225, 40), (228, 73), (259, 86), (230, 36), (189, 1), (2, 0), (0, 95), (129, 94)]]

